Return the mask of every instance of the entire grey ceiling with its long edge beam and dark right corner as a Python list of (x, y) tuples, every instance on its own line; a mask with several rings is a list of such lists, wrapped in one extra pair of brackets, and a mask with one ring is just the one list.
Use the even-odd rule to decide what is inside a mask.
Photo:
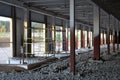
[[(69, 19), (69, 0), (1, 0), (0, 2), (28, 8), (44, 15)], [(120, 19), (119, 0), (75, 0), (76, 22), (93, 26), (93, 2), (101, 8), (101, 27), (105, 28), (108, 15)]]

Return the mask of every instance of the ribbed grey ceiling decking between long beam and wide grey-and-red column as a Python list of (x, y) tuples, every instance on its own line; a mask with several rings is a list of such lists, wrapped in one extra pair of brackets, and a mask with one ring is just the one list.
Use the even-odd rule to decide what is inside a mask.
[[(69, 0), (22, 0), (29, 7), (64, 16), (69, 19)], [(90, 0), (75, 1), (75, 18), (78, 22), (93, 23), (93, 5)]]

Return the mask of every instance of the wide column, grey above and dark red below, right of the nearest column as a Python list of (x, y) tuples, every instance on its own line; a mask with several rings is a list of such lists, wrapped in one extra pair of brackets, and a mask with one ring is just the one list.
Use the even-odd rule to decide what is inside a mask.
[(100, 59), (100, 8), (94, 4), (94, 59)]

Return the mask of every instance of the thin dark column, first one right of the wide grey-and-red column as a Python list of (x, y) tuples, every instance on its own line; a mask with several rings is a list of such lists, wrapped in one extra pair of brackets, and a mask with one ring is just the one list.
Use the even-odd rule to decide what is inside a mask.
[(107, 50), (109, 55), (110, 54), (110, 15), (108, 15), (108, 26), (107, 26)]

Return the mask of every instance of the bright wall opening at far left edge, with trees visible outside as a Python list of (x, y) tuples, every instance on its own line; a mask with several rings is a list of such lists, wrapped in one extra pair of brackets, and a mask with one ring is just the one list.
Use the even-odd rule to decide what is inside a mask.
[(13, 56), (12, 44), (12, 18), (0, 16), (0, 60), (3, 62)]

